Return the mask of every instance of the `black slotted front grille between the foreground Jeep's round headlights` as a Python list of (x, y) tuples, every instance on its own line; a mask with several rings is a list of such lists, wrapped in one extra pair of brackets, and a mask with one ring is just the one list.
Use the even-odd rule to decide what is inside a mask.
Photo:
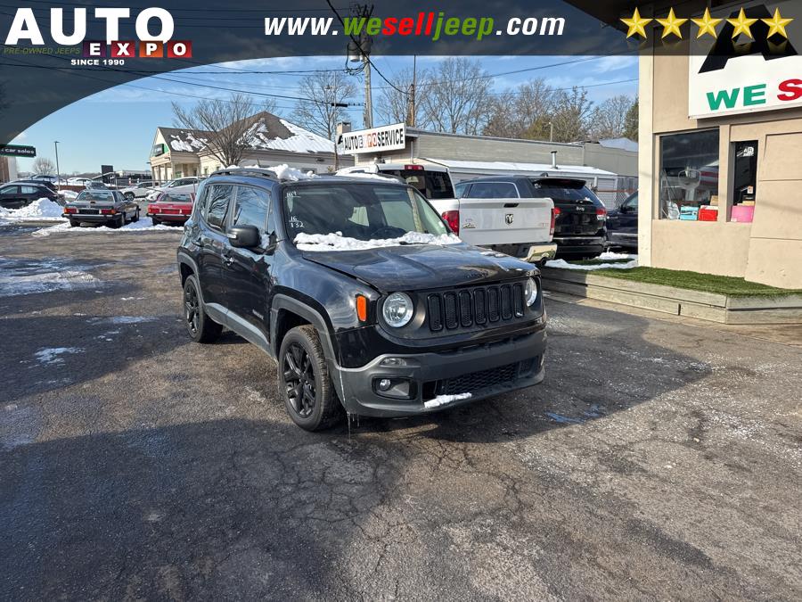
[(487, 323), (506, 322), (523, 316), (523, 285), (476, 286), (460, 291), (430, 293), (426, 315), (430, 330), (468, 328)]

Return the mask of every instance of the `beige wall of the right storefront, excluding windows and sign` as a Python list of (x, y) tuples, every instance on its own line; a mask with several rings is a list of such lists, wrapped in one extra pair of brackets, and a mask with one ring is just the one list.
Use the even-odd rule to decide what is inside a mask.
[[(802, 288), (802, 110), (689, 119), (688, 69), (687, 56), (641, 56), (641, 264)], [(659, 136), (708, 128), (719, 133), (718, 221), (656, 219)], [(749, 140), (757, 140), (755, 215), (743, 224), (729, 221), (731, 149)]]

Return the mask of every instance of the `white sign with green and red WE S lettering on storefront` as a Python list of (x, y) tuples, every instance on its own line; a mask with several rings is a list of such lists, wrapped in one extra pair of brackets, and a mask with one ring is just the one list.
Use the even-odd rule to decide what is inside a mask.
[[(782, 6), (783, 4), (781, 4)], [(782, 31), (766, 24), (773, 5), (752, 5), (745, 11), (754, 20), (734, 38), (735, 27), (724, 27), (716, 39), (692, 38), (689, 57), (688, 116), (693, 119), (751, 111), (774, 111), (802, 106), (802, 23)], [(733, 13), (733, 16), (736, 16)], [(729, 18), (729, 12), (716, 15)]]

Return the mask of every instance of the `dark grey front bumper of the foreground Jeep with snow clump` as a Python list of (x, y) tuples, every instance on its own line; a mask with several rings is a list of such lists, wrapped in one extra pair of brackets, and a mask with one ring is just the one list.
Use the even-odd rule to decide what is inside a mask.
[[(542, 382), (545, 339), (542, 328), (462, 349), (388, 353), (364, 367), (332, 365), (331, 380), (352, 414), (426, 414)], [(381, 391), (388, 383), (389, 389)]]

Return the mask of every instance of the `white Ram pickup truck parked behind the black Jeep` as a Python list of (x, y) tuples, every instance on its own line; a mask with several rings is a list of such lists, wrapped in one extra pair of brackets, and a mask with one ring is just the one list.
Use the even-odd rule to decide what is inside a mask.
[(554, 203), (532, 198), (526, 177), (482, 177), (458, 184), (454, 194), (448, 169), (430, 161), (369, 163), (337, 175), (361, 173), (395, 176), (414, 186), (466, 243), (539, 263), (557, 252)]

